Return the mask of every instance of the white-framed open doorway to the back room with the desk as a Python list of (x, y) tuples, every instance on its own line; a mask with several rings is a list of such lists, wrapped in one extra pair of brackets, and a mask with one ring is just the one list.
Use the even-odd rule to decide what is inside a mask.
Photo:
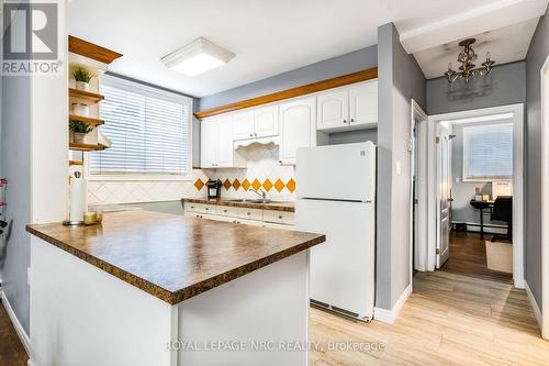
[[(490, 244), (493, 235), (502, 235), (496, 237), (494, 242), (506, 243), (506, 246), (501, 247), (503, 252), (496, 247), (496, 257), (494, 258), (508, 258), (511, 264), (507, 264), (512, 273), (508, 275), (509, 280), (515, 287), (524, 288), (523, 113), (523, 104), (512, 104), (428, 117), (427, 135), (424, 138), (427, 152), (425, 156), (427, 174), (423, 179), (417, 171), (414, 174), (416, 187), (422, 185), (427, 187), (427, 210), (423, 213), (416, 211), (414, 219), (414, 221), (421, 220), (421, 215), (427, 218), (427, 235), (425, 236), (427, 243), (422, 245), (418, 242), (415, 245), (415, 256), (418, 259), (414, 260), (415, 269), (444, 268), (448, 258), (451, 258), (452, 246), (457, 245), (457, 242), (471, 244), (472, 241), (475, 241), (482, 248), (479, 255), (488, 257), (490, 253), (488, 253), (486, 247), (493, 248), (493, 245)], [(503, 144), (496, 146), (500, 154), (500, 152), (505, 151), (503, 148), (504, 142), (508, 146), (507, 158), (498, 156), (498, 160), (496, 160), (497, 154), (486, 153), (489, 149), (485, 149), (485, 154), (488, 154), (485, 156), (474, 155), (481, 154), (484, 145), (492, 146), (496, 143)], [(461, 152), (452, 146), (459, 146)], [(472, 158), (463, 157), (466, 149), (469, 152), (468, 154), (473, 154)], [(415, 148), (414, 154), (418, 154), (418, 148)], [(506, 166), (501, 163), (505, 159), (508, 163)], [(452, 162), (458, 163), (452, 164)], [(507, 171), (505, 168), (511, 169), (512, 174), (505, 174)], [(482, 174), (485, 171), (486, 176), (483, 177)], [(466, 182), (467, 185), (463, 185), (464, 193), (458, 191), (458, 188), (461, 189), (461, 185)], [(495, 191), (502, 187), (506, 187), (511, 191), (508, 193), (505, 193), (505, 190)], [(495, 196), (501, 198), (498, 203), (505, 201), (507, 196), (511, 197), (506, 203), (509, 217), (508, 224), (495, 221), (495, 219), (501, 218), (494, 214), (493, 190)], [(414, 197), (414, 202), (416, 200), (417, 197)], [(473, 200), (479, 200), (479, 204), (483, 206), (482, 213), (479, 213), (479, 209), (473, 207)], [(502, 206), (498, 204), (498, 207), (501, 209)], [(457, 214), (458, 208), (464, 209), (468, 214), (475, 214), (474, 219), (460, 218)], [(481, 215), (488, 222), (481, 224), (475, 220)], [(495, 222), (492, 222), (491, 219), (494, 219)], [(509, 236), (503, 237), (506, 236), (507, 229)], [(462, 233), (458, 234), (458, 230), (461, 230)], [(467, 248), (466, 244), (461, 248)], [(501, 253), (508, 255), (503, 256)], [(468, 255), (468, 253), (463, 254), (463, 256)], [(479, 258), (479, 262), (484, 260), (482, 257)], [(497, 263), (495, 268), (498, 268)]]

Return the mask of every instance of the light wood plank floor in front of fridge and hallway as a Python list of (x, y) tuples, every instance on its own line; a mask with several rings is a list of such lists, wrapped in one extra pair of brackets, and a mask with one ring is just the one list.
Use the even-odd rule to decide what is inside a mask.
[[(524, 290), (448, 271), (418, 273), (392, 325), (312, 309), (311, 365), (549, 365)], [(383, 351), (328, 351), (329, 342), (382, 342)]]

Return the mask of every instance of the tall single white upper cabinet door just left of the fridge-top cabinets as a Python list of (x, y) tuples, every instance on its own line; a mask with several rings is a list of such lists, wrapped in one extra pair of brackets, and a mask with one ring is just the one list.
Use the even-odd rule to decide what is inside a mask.
[(280, 125), (282, 138), (280, 146), (280, 160), (295, 163), (295, 153), (299, 147), (314, 146), (313, 133), (316, 133), (315, 98), (303, 98), (280, 104)]

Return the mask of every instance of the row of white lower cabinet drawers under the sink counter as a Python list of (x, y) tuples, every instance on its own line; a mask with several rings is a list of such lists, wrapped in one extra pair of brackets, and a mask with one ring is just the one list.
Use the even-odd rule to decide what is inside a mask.
[(184, 203), (184, 214), (246, 225), (293, 230), (294, 213), (289, 211), (236, 208), (229, 206)]

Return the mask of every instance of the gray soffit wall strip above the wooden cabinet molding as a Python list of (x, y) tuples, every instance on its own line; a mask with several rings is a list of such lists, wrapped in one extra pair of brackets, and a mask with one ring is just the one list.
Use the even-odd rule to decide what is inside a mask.
[(268, 95), (378, 66), (378, 48), (370, 46), (307, 65), (267, 79), (201, 98), (200, 110)]

